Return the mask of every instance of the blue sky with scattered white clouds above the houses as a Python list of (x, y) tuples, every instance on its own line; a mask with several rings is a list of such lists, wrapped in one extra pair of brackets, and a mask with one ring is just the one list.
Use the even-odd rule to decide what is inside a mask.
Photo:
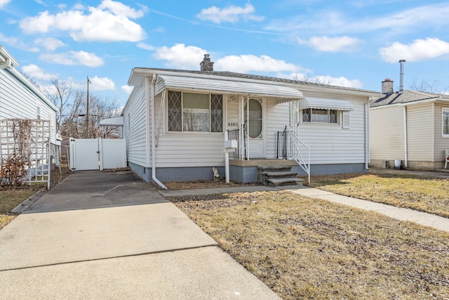
[[(24, 3), (26, 3), (24, 5)], [(380, 91), (449, 87), (449, 2), (0, 0), (0, 45), (41, 84), (126, 103), (133, 67), (214, 70)]]

